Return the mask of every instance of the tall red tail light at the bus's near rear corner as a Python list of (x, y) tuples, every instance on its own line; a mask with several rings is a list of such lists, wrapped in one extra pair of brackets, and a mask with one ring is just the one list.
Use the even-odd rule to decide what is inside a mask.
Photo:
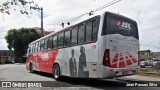
[(105, 52), (104, 52), (104, 55), (103, 55), (103, 65), (111, 67), (109, 49), (106, 49)]

